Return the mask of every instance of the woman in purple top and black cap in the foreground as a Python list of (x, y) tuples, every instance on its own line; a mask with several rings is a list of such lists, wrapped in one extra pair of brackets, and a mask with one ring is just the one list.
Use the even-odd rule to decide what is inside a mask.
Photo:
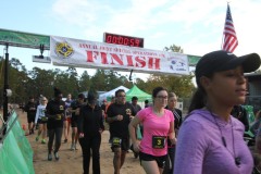
[(245, 127), (231, 115), (245, 102), (244, 73), (260, 66), (257, 53), (237, 58), (226, 51), (203, 55), (196, 65), (198, 89), (177, 137), (176, 174), (250, 174), (252, 156), (243, 139)]

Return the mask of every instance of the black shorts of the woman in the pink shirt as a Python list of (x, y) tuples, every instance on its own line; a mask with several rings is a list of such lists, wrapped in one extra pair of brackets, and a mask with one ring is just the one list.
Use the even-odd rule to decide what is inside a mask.
[(167, 154), (157, 157), (157, 156), (151, 156), (151, 154), (148, 154), (148, 153), (144, 153), (141, 151), (139, 152), (140, 163), (141, 163), (141, 161), (156, 161), (158, 166), (161, 167), (161, 169), (165, 167), (166, 159), (167, 159)]

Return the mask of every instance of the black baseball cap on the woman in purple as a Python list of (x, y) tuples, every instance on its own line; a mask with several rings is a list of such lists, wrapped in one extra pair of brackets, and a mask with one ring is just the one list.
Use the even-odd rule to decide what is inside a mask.
[(244, 73), (254, 72), (260, 66), (260, 57), (250, 53), (236, 57), (234, 53), (219, 50), (204, 54), (196, 65), (196, 80), (199, 85), (201, 76), (209, 76), (215, 72), (228, 71), (241, 65)]

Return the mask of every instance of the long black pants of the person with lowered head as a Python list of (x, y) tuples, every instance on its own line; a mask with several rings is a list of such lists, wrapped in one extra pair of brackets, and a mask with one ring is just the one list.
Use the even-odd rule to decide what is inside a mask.
[(100, 174), (100, 145), (101, 135), (96, 136), (85, 136), (79, 138), (79, 145), (83, 150), (84, 160), (84, 174), (89, 174), (89, 163), (90, 163), (90, 150), (92, 152), (92, 174)]

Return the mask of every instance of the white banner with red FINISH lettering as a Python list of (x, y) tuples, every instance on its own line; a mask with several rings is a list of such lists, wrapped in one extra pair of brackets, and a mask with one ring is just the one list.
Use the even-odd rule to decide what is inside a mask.
[(50, 57), (54, 65), (61, 66), (189, 74), (186, 54), (57, 36), (50, 38)]

